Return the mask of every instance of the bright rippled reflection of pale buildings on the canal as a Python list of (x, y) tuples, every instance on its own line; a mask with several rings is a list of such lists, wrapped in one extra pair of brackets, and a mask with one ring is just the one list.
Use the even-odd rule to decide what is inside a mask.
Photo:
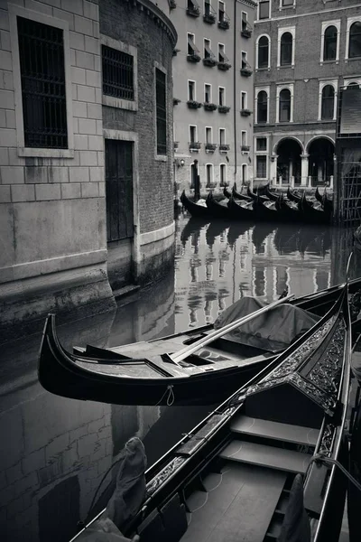
[(178, 228), (183, 251), (176, 257), (177, 330), (212, 322), (245, 295), (272, 302), (285, 289), (295, 295), (308, 294), (344, 278), (346, 264), (331, 266), (331, 253), (338, 257), (342, 247), (338, 241), (335, 252), (333, 239), (339, 238), (339, 231), (331, 228), (224, 220), (205, 223), (182, 215)]

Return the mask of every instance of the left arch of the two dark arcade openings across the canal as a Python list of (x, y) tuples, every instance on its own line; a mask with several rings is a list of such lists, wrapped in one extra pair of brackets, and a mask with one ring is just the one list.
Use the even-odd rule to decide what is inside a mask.
[(277, 145), (277, 180), (282, 184), (301, 184), (301, 145), (295, 139), (282, 139)]

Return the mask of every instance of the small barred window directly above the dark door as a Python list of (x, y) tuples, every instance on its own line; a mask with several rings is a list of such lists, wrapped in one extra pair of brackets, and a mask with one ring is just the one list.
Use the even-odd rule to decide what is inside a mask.
[(133, 56), (102, 45), (103, 93), (134, 100)]

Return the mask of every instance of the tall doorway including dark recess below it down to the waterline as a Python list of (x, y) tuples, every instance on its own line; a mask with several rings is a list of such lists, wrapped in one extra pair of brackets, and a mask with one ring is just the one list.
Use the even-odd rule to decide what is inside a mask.
[(107, 273), (113, 290), (134, 283), (133, 145), (106, 139)]

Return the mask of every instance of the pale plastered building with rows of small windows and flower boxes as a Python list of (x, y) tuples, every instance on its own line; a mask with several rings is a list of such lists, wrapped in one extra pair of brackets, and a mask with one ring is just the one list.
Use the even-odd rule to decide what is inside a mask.
[(202, 195), (253, 175), (253, 0), (171, 2), (176, 192)]

